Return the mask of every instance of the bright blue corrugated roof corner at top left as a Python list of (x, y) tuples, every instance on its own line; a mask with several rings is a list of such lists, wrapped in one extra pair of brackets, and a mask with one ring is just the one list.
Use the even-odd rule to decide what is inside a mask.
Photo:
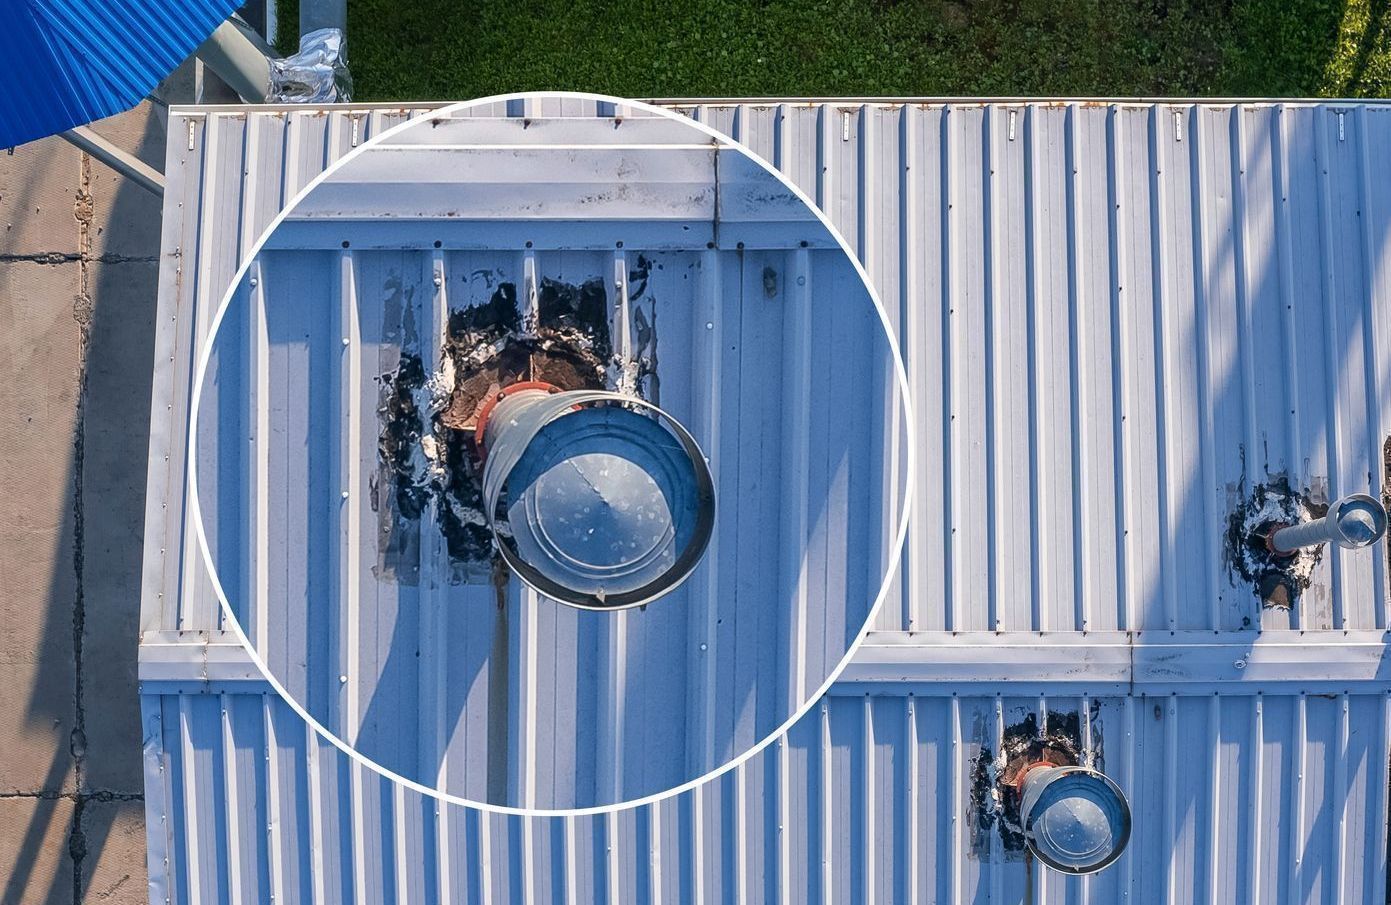
[(238, 4), (24, 0), (0, 29), (0, 147), (128, 110)]

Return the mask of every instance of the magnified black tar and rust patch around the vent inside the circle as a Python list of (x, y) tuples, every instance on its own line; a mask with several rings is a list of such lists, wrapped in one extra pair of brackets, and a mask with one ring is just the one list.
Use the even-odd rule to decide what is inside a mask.
[[(654, 264), (638, 257), (627, 272), (634, 348), (619, 360), (609, 335), (609, 286), (602, 278), (566, 282), (541, 278), (536, 311), (524, 316), (517, 284), (491, 271), (473, 274), (492, 286), (487, 302), (449, 313), (440, 367), (427, 374), (420, 354), (401, 356), (383, 375), (378, 459), (385, 480), (374, 488), (385, 574), (417, 578), (421, 523), (434, 502), (449, 559), (449, 580), (491, 581), (495, 551), (483, 512), (481, 463), (474, 428), (483, 406), (501, 389), (544, 381), (561, 389), (625, 388), (657, 398), (657, 313), (644, 310)], [(659, 267), (659, 266), (658, 266)], [(389, 494), (389, 506), (378, 499)]]

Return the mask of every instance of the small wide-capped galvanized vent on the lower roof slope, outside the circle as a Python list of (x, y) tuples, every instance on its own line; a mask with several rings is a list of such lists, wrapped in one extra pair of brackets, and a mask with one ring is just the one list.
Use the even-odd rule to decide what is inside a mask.
[(1020, 798), (1024, 842), (1034, 856), (1064, 873), (1096, 873), (1125, 851), (1131, 834), (1125, 794), (1089, 767), (1036, 763)]

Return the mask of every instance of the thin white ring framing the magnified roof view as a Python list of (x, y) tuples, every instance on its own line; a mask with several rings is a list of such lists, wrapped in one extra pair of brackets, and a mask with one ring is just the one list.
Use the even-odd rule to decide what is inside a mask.
[[(591, 805), (591, 806), (587, 806), (587, 808), (516, 808), (516, 806), (512, 806), (512, 805), (495, 805), (495, 804), (490, 804), (490, 802), (473, 801), (470, 798), (462, 798), (459, 795), (453, 795), (453, 794), (447, 792), (447, 791), (440, 790), (440, 788), (430, 788), (428, 785), (423, 785), (421, 783), (417, 783), (416, 780), (408, 778), (405, 776), (401, 776), (399, 773), (388, 770), (387, 767), (381, 766), (380, 763), (377, 763), (371, 758), (366, 756), (364, 753), (362, 753), (360, 751), (357, 751), (356, 747), (349, 745), (346, 741), (344, 741), (342, 738), (339, 738), (337, 734), (331, 733), (325, 726), (323, 726), (319, 720), (316, 720), (295, 699), (295, 696), (291, 695), (285, 690), (285, 687), (281, 685), (280, 681), (271, 674), (270, 669), (266, 666), (266, 662), (260, 658), (260, 655), (256, 652), (256, 648), (252, 645), (250, 638), (248, 638), (246, 633), (242, 630), (241, 621), (236, 619), (236, 614), (232, 612), (231, 603), (227, 599), (227, 592), (223, 589), (223, 582), (218, 578), (217, 567), (213, 563), (213, 555), (211, 555), (211, 551), (210, 551), (209, 544), (207, 544), (207, 534), (203, 530), (203, 512), (202, 512), (202, 507), (199, 506), (199, 502), (198, 502), (198, 453), (196, 453), (196, 449), (195, 449), (196, 443), (188, 443), (189, 453), (188, 453), (186, 505), (189, 507), (189, 514), (191, 514), (192, 521), (193, 521), (193, 530), (195, 530), (195, 534), (198, 537), (198, 545), (199, 545), (199, 549), (200, 549), (202, 556), (203, 556), (203, 564), (207, 569), (207, 577), (209, 577), (209, 580), (210, 580), (210, 582), (213, 585), (213, 591), (217, 594), (217, 601), (218, 601), (218, 605), (223, 609), (223, 616), (224, 616), (225, 621), (231, 624), (232, 631), (236, 633), (236, 637), (242, 642), (242, 646), (250, 655), (252, 662), (262, 671), (262, 676), (266, 677), (266, 681), (270, 684), (270, 687), (274, 688), (275, 692), (281, 696), (281, 699), (285, 701), (285, 703), (288, 703), (289, 708), (296, 715), (299, 715), (300, 719), (305, 720), (305, 723), (307, 723), (309, 726), (312, 726), (316, 733), (319, 733), (325, 740), (328, 740), (328, 742), (331, 742), (335, 748), (338, 748), (339, 751), (342, 751), (348, 756), (353, 758), (355, 760), (357, 760), (359, 763), (362, 763), (367, 769), (376, 772), (377, 774), (380, 774), (380, 776), (383, 776), (383, 777), (385, 777), (385, 778), (388, 778), (388, 780), (391, 780), (394, 783), (399, 783), (405, 788), (409, 788), (412, 791), (420, 792), (421, 795), (428, 795), (430, 798), (434, 798), (437, 801), (448, 802), (451, 805), (460, 805), (460, 806), (465, 806), (465, 808), (474, 808), (474, 809), (483, 810), (483, 812), (505, 813), (505, 815), (515, 815), (515, 816), (522, 816), (522, 817), (572, 817), (572, 816), (573, 817), (580, 817), (580, 816), (593, 816), (593, 815), (604, 815), (604, 813), (616, 813), (619, 810), (636, 809), (636, 808), (641, 808), (644, 805), (654, 805), (654, 804), (661, 802), (661, 801), (664, 801), (666, 798), (673, 798), (676, 795), (687, 792), (687, 791), (696, 788), (697, 785), (704, 785), (705, 783), (708, 783), (711, 780), (715, 780), (719, 776), (723, 776), (725, 773), (733, 770), (734, 767), (737, 767), (739, 765), (744, 763), (746, 760), (748, 760), (754, 755), (759, 753), (764, 748), (766, 748), (769, 744), (772, 744), (773, 740), (780, 738), (782, 735), (786, 735), (787, 731), (793, 726), (796, 726), (801, 720), (801, 717), (804, 717), (811, 710), (811, 708), (826, 695), (826, 691), (836, 683), (836, 678), (840, 677), (840, 673), (843, 673), (846, 670), (846, 667), (850, 665), (850, 660), (854, 658), (855, 651), (864, 644), (865, 638), (869, 635), (871, 626), (874, 624), (875, 619), (878, 617), (879, 610), (883, 606), (883, 602), (885, 602), (885, 599), (889, 595), (889, 589), (890, 589), (890, 587), (893, 584), (893, 578), (897, 574), (897, 570), (899, 570), (900, 563), (903, 560), (903, 549), (904, 549), (904, 545), (906, 545), (906, 541), (907, 541), (907, 534), (908, 534), (908, 513), (912, 509), (914, 484), (917, 481), (917, 473), (915, 473), (917, 449), (915, 449), (915, 445), (914, 445), (914, 438), (917, 437), (917, 431), (914, 430), (915, 420), (914, 420), (912, 403), (911, 403), (910, 392), (908, 392), (910, 391), (908, 373), (907, 373), (907, 367), (904, 366), (903, 353), (899, 349), (899, 338), (897, 338), (897, 335), (896, 335), (896, 332), (893, 329), (893, 324), (890, 324), (890, 321), (889, 321), (889, 316), (885, 311), (883, 303), (879, 299), (879, 292), (875, 289), (874, 282), (871, 282), (869, 274), (865, 271), (864, 264), (861, 264), (860, 259), (854, 254), (854, 252), (851, 250), (850, 245), (846, 242), (844, 236), (840, 235), (840, 231), (836, 229), (835, 224), (830, 222), (830, 218), (826, 217), (825, 211), (822, 211), (815, 204), (815, 202), (812, 202), (812, 199), (805, 192), (801, 190), (800, 186), (794, 185), (791, 182), (791, 179), (789, 179), (786, 175), (783, 175), (779, 170), (776, 170), (771, 163), (768, 163), (766, 160), (764, 160), (761, 156), (755, 154), (753, 150), (750, 150), (748, 147), (746, 147), (743, 143), (736, 142), (732, 138), (729, 138), (727, 135), (725, 135), (722, 132), (718, 132), (716, 129), (711, 128), (709, 125), (705, 125), (704, 122), (698, 122), (698, 121), (696, 121), (696, 120), (693, 120), (693, 118), (690, 118), (687, 115), (683, 115), (683, 114), (680, 114), (680, 113), (677, 113), (675, 110), (666, 110), (666, 108), (657, 107), (654, 104), (648, 104), (648, 103), (640, 101), (640, 100), (626, 100), (626, 99), (622, 99), (622, 97), (612, 97), (612, 96), (608, 96), (608, 95), (594, 95), (594, 93), (588, 93), (588, 92), (515, 92), (515, 93), (509, 93), (509, 95), (492, 95), (492, 96), (488, 96), (488, 97), (479, 97), (476, 100), (465, 100), (465, 101), (453, 103), (453, 104), (441, 107), (441, 108), (438, 108), (438, 110), (435, 110), (433, 113), (423, 114), (423, 117), (449, 115), (449, 114), (452, 114), (452, 113), (455, 113), (458, 110), (466, 110), (469, 107), (476, 107), (476, 106), (481, 106), (481, 104), (505, 103), (505, 101), (509, 101), (509, 100), (527, 100), (527, 99), (533, 99), (533, 97), (547, 97), (547, 99), (556, 97), (556, 99), (570, 99), (570, 100), (594, 100), (594, 101), (600, 101), (600, 103), (616, 104), (616, 106), (622, 106), (622, 107), (630, 107), (630, 108), (636, 108), (636, 110), (643, 110), (643, 111), (647, 111), (647, 113), (655, 113), (655, 114), (666, 117), (669, 120), (676, 120), (676, 121), (679, 121), (679, 122), (682, 122), (684, 125), (694, 127), (696, 129), (698, 129), (700, 132), (704, 132), (709, 138), (712, 138), (712, 139), (715, 139), (718, 142), (730, 145), (736, 150), (739, 150), (743, 154), (746, 154), (750, 160), (753, 160), (754, 163), (757, 163), (759, 167), (762, 167), (765, 171), (768, 171), (769, 174), (772, 174), (785, 186), (787, 186), (789, 189), (791, 189), (791, 192), (797, 196), (797, 199), (800, 199), (817, 215), (817, 218), (821, 221), (821, 224), (830, 232), (832, 238), (836, 239), (836, 242), (840, 246), (840, 250), (846, 254), (847, 259), (850, 259), (851, 266), (855, 268), (855, 274), (864, 282), (865, 289), (869, 293), (869, 300), (874, 303), (875, 313), (879, 316), (879, 324), (881, 324), (881, 327), (883, 327), (885, 336), (889, 341), (889, 349), (893, 352), (894, 375), (897, 377), (897, 381), (899, 381), (899, 402), (900, 402), (900, 405), (897, 406), (897, 409), (901, 410), (901, 413), (903, 413), (903, 424), (900, 425), (901, 427), (900, 437), (906, 438), (906, 442), (903, 445), (907, 448), (907, 455), (906, 455), (906, 457), (903, 460), (904, 462), (904, 471), (906, 471), (904, 482), (903, 482), (903, 514), (899, 519), (899, 530), (894, 534), (894, 541), (893, 541), (893, 544), (890, 545), (890, 549), (889, 549), (889, 567), (885, 571), (883, 584), (879, 587), (879, 594), (875, 596), (874, 605), (869, 608), (869, 613), (865, 616), (865, 621), (864, 621), (864, 626), (861, 627), (860, 633), (855, 635), (854, 641), (850, 644), (850, 646), (846, 651), (844, 656), (842, 656), (840, 662), (836, 665), (836, 669), (830, 670), (830, 674), (821, 684), (821, 687), (817, 688), (814, 694), (808, 695), (807, 699), (803, 702), (803, 705), (800, 708), (797, 708), (786, 721), (783, 721), (780, 726), (778, 726), (775, 730), (772, 730), (761, 741), (753, 744), (743, 753), (736, 755), (734, 758), (730, 758), (729, 760), (726, 760), (721, 766), (715, 767), (714, 770), (709, 770), (708, 773), (697, 776), (696, 778), (687, 780), (687, 781), (682, 783), (680, 785), (673, 785), (672, 788), (664, 790), (661, 792), (654, 792), (651, 795), (644, 795), (643, 798), (632, 798), (632, 799), (626, 799), (626, 801), (620, 801), (620, 802), (615, 802), (615, 804), (609, 804), (609, 805)], [(206, 374), (207, 374), (207, 364), (209, 364), (209, 360), (211, 359), (213, 345), (214, 345), (214, 342), (217, 339), (218, 329), (221, 328), (223, 318), (227, 314), (227, 310), (231, 307), (232, 299), (236, 296), (236, 292), (238, 292), (238, 289), (242, 285), (242, 279), (246, 277), (246, 271), (250, 268), (252, 261), (256, 260), (256, 256), (260, 254), (262, 246), (266, 245), (267, 239), (270, 239), (271, 234), (275, 232), (275, 228), (280, 227), (280, 224), (285, 220), (285, 217), (292, 210), (295, 210), (295, 207), (305, 199), (305, 196), (307, 196), (314, 188), (317, 188), (320, 182), (324, 182), (338, 168), (344, 167), (351, 160), (353, 160), (355, 157), (357, 157), (357, 154), (360, 154), (364, 150), (373, 147), (378, 142), (384, 142), (389, 136), (392, 136), (396, 132), (399, 132), (402, 129), (406, 129), (406, 128), (409, 128), (412, 125), (420, 125), (420, 120), (423, 117), (413, 117), (410, 120), (406, 120), (405, 122), (396, 124), (395, 127), (387, 129), (381, 135), (373, 136), (370, 140), (363, 142), (356, 149), (348, 152), (345, 156), (342, 156), (341, 158), (338, 158), (337, 161), (334, 161), (332, 165), (330, 165), (323, 172), (320, 172), (317, 177), (314, 177), (313, 179), (310, 179), (310, 182), (303, 189), (300, 189), (299, 193), (295, 195), (295, 197), (289, 203), (287, 203), (284, 209), (281, 209), (281, 211), (275, 215), (275, 218), (271, 220), (271, 222), (266, 227), (264, 232), (262, 232), (260, 238), (256, 240), (256, 243), (246, 253), (245, 260), (236, 268), (236, 274), (232, 277), (232, 281), (228, 285), (227, 293), (223, 296), (223, 302), (218, 304), (217, 313), (213, 316), (213, 320), (209, 324), (207, 339), (204, 341), (203, 352), (199, 354), (198, 371), (193, 375), (195, 377), (193, 396), (192, 396), (191, 407), (189, 407), (189, 427), (188, 427), (189, 434), (188, 435), (189, 435), (191, 439), (198, 437), (198, 414), (199, 414), (199, 407), (200, 407), (202, 395), (203, 395), (203, 382), (204, 382), (204, 378), (206, 378)]]

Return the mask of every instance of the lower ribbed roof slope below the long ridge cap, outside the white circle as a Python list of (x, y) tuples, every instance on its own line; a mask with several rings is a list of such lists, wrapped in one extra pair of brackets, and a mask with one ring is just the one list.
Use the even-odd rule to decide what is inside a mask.
[[(1385, 901), (1384, 694), (854, 688), (714, 783), (583, 817), (440, 805), (349, 760), (274, 695), (149, 695), (150, 899)], [(1131, 844), (1093, 877), (1031, 869), (981, 819), (978, 765), (995, 769), (1007, 727), (1046, 713), (1077, 717), (1084, 755), (1129, 797)]]

